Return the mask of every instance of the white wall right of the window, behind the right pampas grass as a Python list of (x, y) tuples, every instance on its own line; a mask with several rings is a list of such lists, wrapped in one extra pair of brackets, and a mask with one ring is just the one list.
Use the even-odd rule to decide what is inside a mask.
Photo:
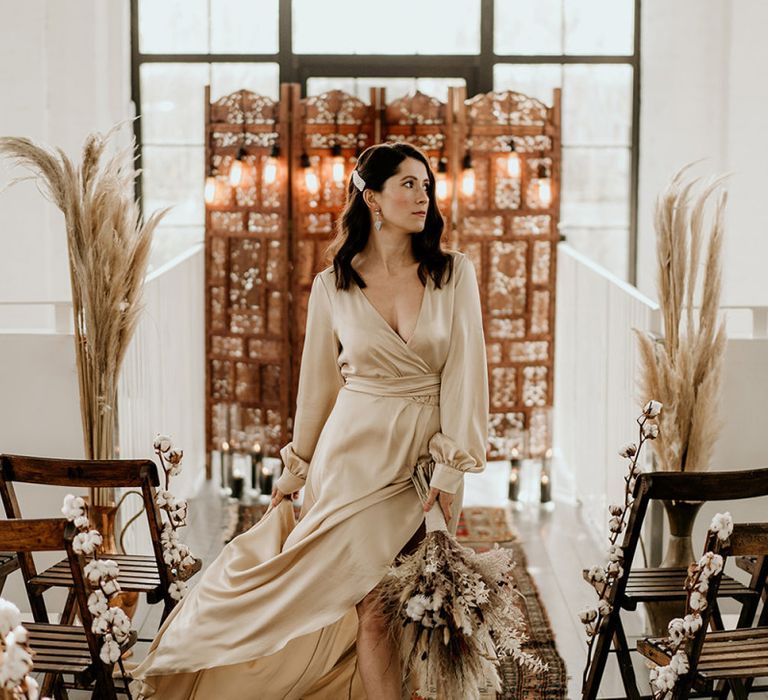
[(764, 0), (643, 0), (638, 286), (655, 292), (653, 206), (687, 162), (730, 180), (727, 305), (767, 305), (764, 206), (768, 161), (768, 3)]

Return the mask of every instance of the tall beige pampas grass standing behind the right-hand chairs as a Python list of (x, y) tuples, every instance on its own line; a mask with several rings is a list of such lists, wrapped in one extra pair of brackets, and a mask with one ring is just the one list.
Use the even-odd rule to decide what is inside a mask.
[[(664, 338), (656, 341), (650, 334), (636, 331), (642, 402), (655, 399), (664, 405), (655, 442), (664, 471), (706, 470), (720, 427), (718, 403), (726, 336), (718, 310), (727, 193), (720, 188), (725, 176), (720, 176), (694, 196), (697, 180), (686, 177), (691, 165), (675, 174), (656, 203), (657, 288)], [(714, 212), (705, 226), (707, 205), (713, 198)], [(701, 262), (704, 270), (697, 312), (694, 300)]]

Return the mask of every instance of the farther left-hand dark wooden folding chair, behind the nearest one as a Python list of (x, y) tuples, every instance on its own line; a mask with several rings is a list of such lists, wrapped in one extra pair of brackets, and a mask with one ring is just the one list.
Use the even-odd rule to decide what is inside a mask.
[[(140, 489), (147, 515), (149, 534), (152, 538), (152, 554), (109, 553), (109, 558), (120, 568), (118, 583), (123, 591), (146, 593), (150, 604), (163, 603), (165, 620), (176, 601), (169, 593), (171, 571), (163, 560), (160, 541), (160, 510), (155, 502), (155, 488), (159, 485), (157, 467), (149, 460), (65, 460), (43, 457), (0, 455), (0, 497), (5, 514), (21, 518), (21, 510), (14, 491), (14, 482), (68, 486), (71, 488), (106, 487)], [(72, 588), (72, 575), (66, 560), (38, 574), (32, 558), (19, 555), (19, 565), (27, 586), (32, 613), (37, 622), (47, 622), (43, 603), (43, 591), (53, 586)], [(199, 570), (198, 561), (193, 570)], [(70, 592), (62, 613), (64, 621), (74, 617), (75, 597)]]

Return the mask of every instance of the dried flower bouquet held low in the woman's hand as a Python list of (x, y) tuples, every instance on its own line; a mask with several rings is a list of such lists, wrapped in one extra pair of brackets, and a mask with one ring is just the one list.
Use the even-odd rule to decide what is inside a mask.
[[(412, 475), (422, 503), (429, 495), (434, 462)], [(395, 645), (405, 682), (420, 697), (471, 700), (480, 691), (501, 692), (498, 663), (512, 656), (534, 672), (546, 669), (524, 652), (525, 619), (509, 572), (509, 551), (495, 546), (477, 554), (447, 531), (439, 506), (426, 514), (427, 535), (411, 555), (400, 557), (377, 589), (378, 603)]]

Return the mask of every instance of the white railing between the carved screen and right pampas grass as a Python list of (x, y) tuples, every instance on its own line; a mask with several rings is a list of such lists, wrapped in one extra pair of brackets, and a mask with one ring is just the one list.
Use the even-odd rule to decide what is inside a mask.
[(602, 537), (608, 498), (623, 493), (618, 449), (637, 436), (633, 329), (658, 331), (658, 306), (567, 244), (557, 264), (553, 484)]

